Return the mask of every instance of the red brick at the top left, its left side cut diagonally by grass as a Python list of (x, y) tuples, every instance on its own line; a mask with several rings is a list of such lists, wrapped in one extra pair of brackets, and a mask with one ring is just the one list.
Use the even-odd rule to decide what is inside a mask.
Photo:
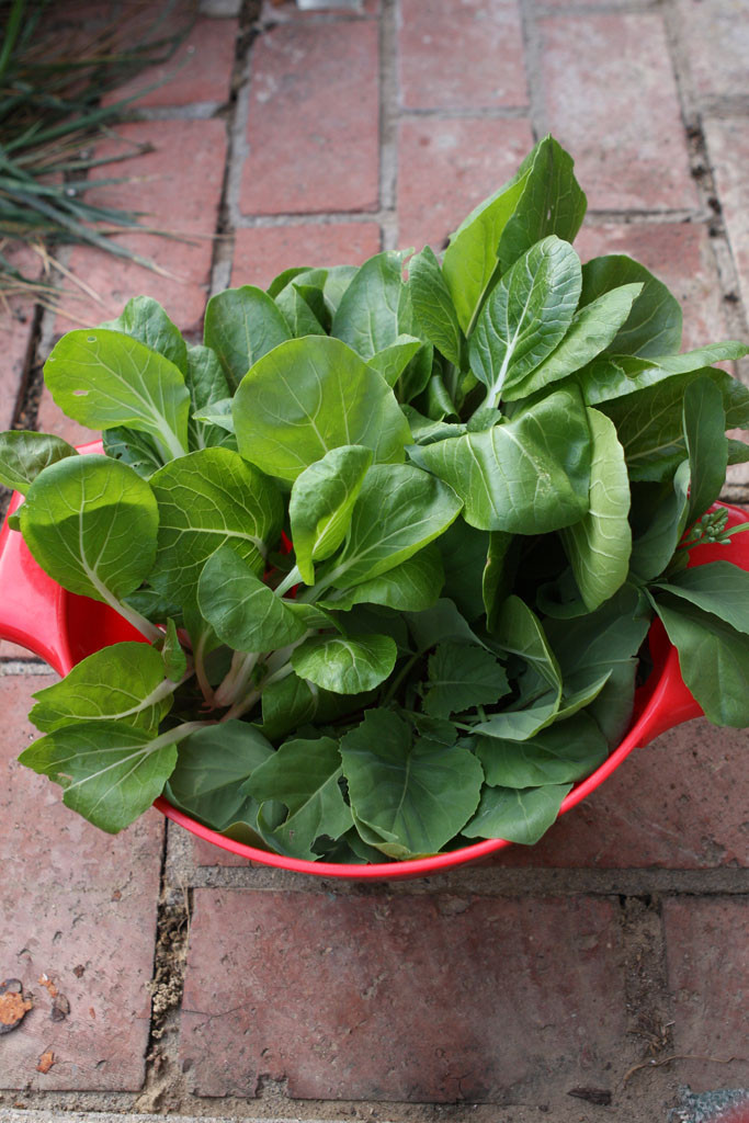
[[(238, 30), (236, 19), (195, 20), (190, 34), (167, 62), (141, 71), (126, 85), (108, 94), (103, 103), (131, 98), (155, 83), (161, 84), (134, 102), (136, 109), (227, 101), (231, 93)], [(159, 29), (158, 34), (163, 36), (166, 31)]]

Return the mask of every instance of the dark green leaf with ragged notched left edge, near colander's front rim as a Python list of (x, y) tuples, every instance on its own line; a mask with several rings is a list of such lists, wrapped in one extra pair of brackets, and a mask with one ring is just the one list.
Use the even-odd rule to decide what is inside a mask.
[[(313, 861), (312, 843), (320, 834), (337, 839), (349, 830), (351, 811), (338, 783), (340, 775), (338, 741), (332, 738), (282, 745), (245, 784), (245, 791), (259, 803), (273, 800), (287, 809), (280, 827), (264, 831), (266, 841)], [(262, 810), (258, 822), (263, 825)]]

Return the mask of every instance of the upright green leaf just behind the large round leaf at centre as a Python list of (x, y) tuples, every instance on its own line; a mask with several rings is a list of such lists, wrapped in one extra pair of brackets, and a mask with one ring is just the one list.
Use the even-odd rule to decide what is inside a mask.
[(357, 271), (336, 309), (331, 335), (342, 339), (363, 359), (390, 347), (401, 334), (399, 304), (404, 257), (405, 254), (394, 250), (371, 257)]

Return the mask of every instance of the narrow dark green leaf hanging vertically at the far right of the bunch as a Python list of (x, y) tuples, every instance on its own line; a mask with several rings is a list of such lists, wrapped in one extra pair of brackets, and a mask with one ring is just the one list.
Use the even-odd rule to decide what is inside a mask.
[(689, 455), (689, 523), (712, 506), (723, 489), (728, 441), (723, 395), (710, 378), (689, 383), (682, 409)]

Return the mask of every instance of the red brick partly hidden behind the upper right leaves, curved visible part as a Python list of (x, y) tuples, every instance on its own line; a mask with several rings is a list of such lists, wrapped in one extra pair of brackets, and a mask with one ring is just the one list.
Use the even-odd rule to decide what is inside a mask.
[(723, 296), (710, 236), (691, 222), (585, 225), (575, 248), (583, 258), (629, 254), (668, 285), (684, 312), (683, 349), (725, 339)]

